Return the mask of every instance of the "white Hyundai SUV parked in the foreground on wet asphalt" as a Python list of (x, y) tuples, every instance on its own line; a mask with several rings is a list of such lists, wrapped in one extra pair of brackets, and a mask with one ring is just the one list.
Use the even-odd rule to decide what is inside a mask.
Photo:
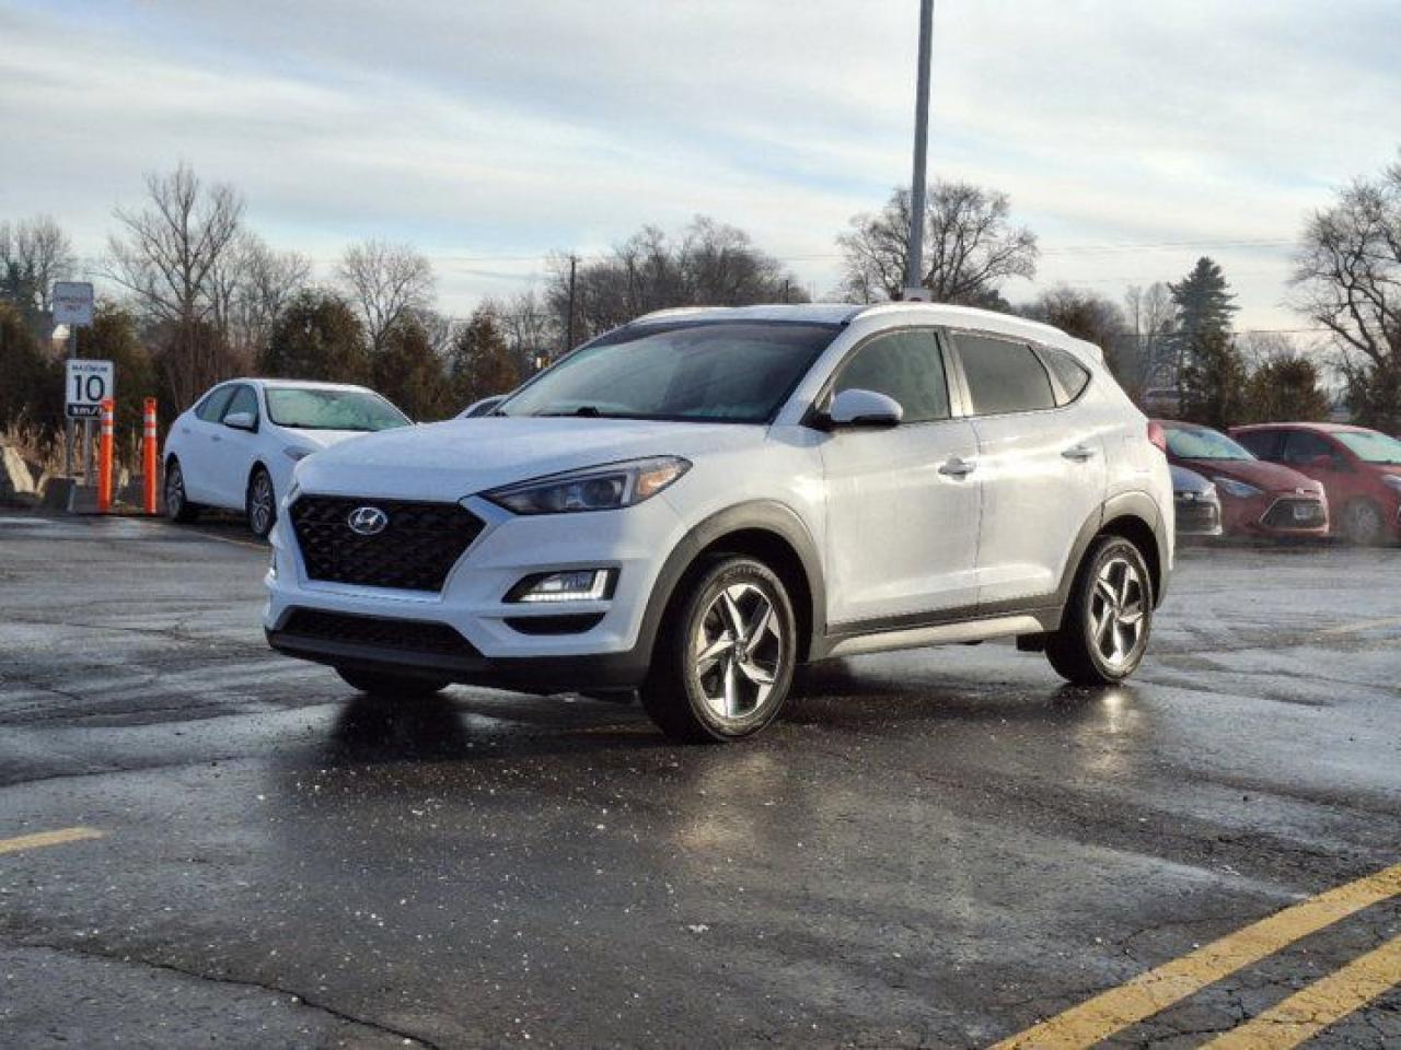
[(1016, 637), (1111, 683), (1171, 571), (1161, 441), (1096, 347), (1019, 318), (663, 311), (489, 416), (300, 463), (263, 626), (361, 690), (636, 689), (688, 741), (859, 652)]

